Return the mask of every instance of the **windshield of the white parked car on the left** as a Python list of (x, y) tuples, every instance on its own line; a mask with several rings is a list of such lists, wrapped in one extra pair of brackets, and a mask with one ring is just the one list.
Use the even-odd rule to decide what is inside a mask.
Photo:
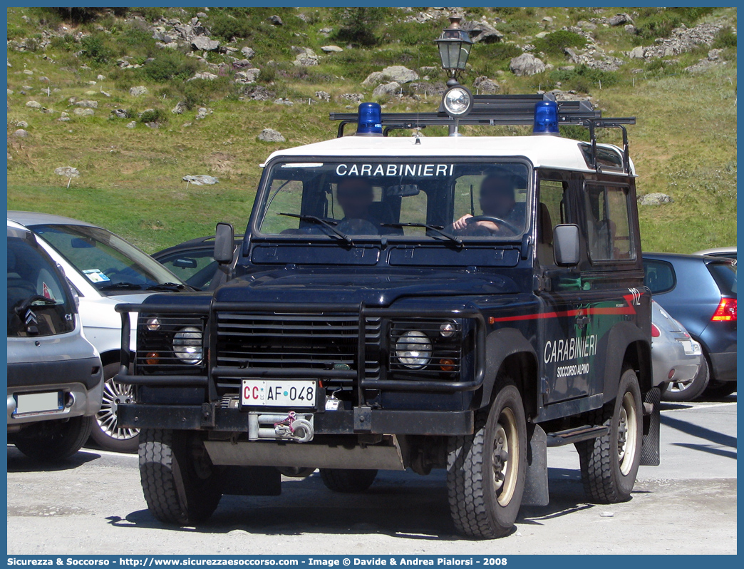
[(182, 282), (158, 261), (100, 227), (37, 225), (33, 231), (51, 244), (103, 294), (132, 290), (170, 290)]

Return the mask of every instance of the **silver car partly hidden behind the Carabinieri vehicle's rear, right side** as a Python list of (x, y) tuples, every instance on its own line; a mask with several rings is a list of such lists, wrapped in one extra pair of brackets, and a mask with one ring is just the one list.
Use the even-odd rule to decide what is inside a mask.
[[(700, 344), (658, 302), (651, 302), (653, 383), (664, 401), (692, 401), (708, 384)], [(702, 380), (696, 381), (700, 375)]]

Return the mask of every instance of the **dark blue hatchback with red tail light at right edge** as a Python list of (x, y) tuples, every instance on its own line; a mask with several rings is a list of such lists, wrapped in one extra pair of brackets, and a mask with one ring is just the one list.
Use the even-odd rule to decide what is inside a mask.
[[(644, 253), (644, 284), (653, 299), (702, 345), (707, 393), (737, 390), (737, 265), (728, 258)], [(700, 373), (688, 389), (702, 391)]]

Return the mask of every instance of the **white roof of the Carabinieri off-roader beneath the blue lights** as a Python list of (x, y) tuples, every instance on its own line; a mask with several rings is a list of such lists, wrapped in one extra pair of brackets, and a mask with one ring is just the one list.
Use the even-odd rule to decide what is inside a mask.
[[(594, 172), (589, 168), (579, 147), (580, 142), (560, 136), (422, 136), (420, 144), (414, 144), (412, 136), (344, 136), (340, 139), (305, 144), (286, 150), (277, 150), (269, 160), (278, 157), (307, 156), (344, 158), (386, 157), (392, 159), (425, 158), (426, 156), (456, 156), (464, 158), (516, 157), (523, 156), (535, 168)], [(622, 150), (613, 144), (597, 144), (598, 148), (609, 148), (622, 156)], [(262, 166), (264, 166), (263, 164)], [(630, 163), (630, 172), (635, 168)], [(612, 170), (604, 174), (620, 174)]]

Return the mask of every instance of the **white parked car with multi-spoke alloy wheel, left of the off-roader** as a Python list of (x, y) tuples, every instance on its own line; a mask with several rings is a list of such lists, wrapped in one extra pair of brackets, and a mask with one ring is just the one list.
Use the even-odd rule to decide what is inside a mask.
[[(134, 398), (132, 386), (113, 381), (121, 355), (121, 315), (115, 306), (142, 302), (155, 292), (192, 289), (147, 253), (92, 223), (34, 212), (8, 212), (7, 217), (39, 238), (80, 296), (83, 332), (100, 353), (106, 382), (93, 441), (112, 451), (137, 451), (139, 431), (118, 427), (116, 419), (117, 405)], [(135, 331), (132, 321), (132, 347)]]

